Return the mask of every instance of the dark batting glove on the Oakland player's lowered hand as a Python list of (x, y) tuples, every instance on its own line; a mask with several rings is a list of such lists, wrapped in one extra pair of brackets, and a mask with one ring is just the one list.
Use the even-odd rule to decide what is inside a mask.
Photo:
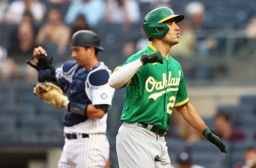
[(207, 140), (209, 140), (210, 142), (212, 142), (212, 144), (214, 144), (214, 145), (216, 145), (219, 149), (220, 149), (220, 151), (223, 153), (228, 153), (228, 150), (227, 150), (227, 148), (226, 148), (226, 146), (225, 146), (225, 144), (222, 142), (222, 140), (218, 137), (218, 136), (216, 136), (215, 134), (214, 134), (214, 130), (212, 129), (212, 128), (206, 128), (206, 129), (204, 129), (204, 131), (203, 131), (203, 136), (205, 136), (205, 138), (207, 139)]

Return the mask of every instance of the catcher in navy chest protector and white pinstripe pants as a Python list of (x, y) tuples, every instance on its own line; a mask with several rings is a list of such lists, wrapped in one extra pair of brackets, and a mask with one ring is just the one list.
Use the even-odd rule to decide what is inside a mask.
[(107, 111), (115, 91), (108, 85), (111, 71), (97, 59), (104, 48), (93, 31), (74, 33), (71, 49), (75, 61), (57, 69), (44, 48), (34, 49), (33, 59), (27, 61), (38, 70), (41, 82), (34, 87), (34, 94), (57, 108), (66, 108), (66, 138), (58, 167), (104, 167), (109, 159)]

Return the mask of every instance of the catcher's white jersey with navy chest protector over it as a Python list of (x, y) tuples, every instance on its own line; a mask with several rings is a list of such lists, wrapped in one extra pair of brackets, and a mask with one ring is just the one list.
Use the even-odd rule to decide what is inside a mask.
[[(56, 78), (63, 91), (67, 91), (70, 102), (81, 104), (107, 104), (109, 108), (115, 89), (108, 85), (111, 71), (100, 62), (90, 70), (78, 66), (75, 61), (64, 63), (56, 70)], [(107, 113), (102, 119), (82, 116), (66, 111), (65, 133), (106, 133)]]

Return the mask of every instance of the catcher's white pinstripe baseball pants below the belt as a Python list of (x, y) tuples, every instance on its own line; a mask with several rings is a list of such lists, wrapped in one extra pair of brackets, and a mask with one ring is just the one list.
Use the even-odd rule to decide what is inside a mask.
[(104, 134), (89, 135), (89, 138), (65, 138), (65, 145), (63, 146), (58, 167), (103, 168), (108, 159), (109, 142)]

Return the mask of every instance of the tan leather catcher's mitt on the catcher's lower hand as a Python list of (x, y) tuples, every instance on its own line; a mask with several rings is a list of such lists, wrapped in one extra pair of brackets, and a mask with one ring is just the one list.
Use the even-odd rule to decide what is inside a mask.
[(61, 88), (51, 82), (37, 83), (33, 93), (57, 108), (66, 107), (69, 102), (68, 98), (63, 95)]

